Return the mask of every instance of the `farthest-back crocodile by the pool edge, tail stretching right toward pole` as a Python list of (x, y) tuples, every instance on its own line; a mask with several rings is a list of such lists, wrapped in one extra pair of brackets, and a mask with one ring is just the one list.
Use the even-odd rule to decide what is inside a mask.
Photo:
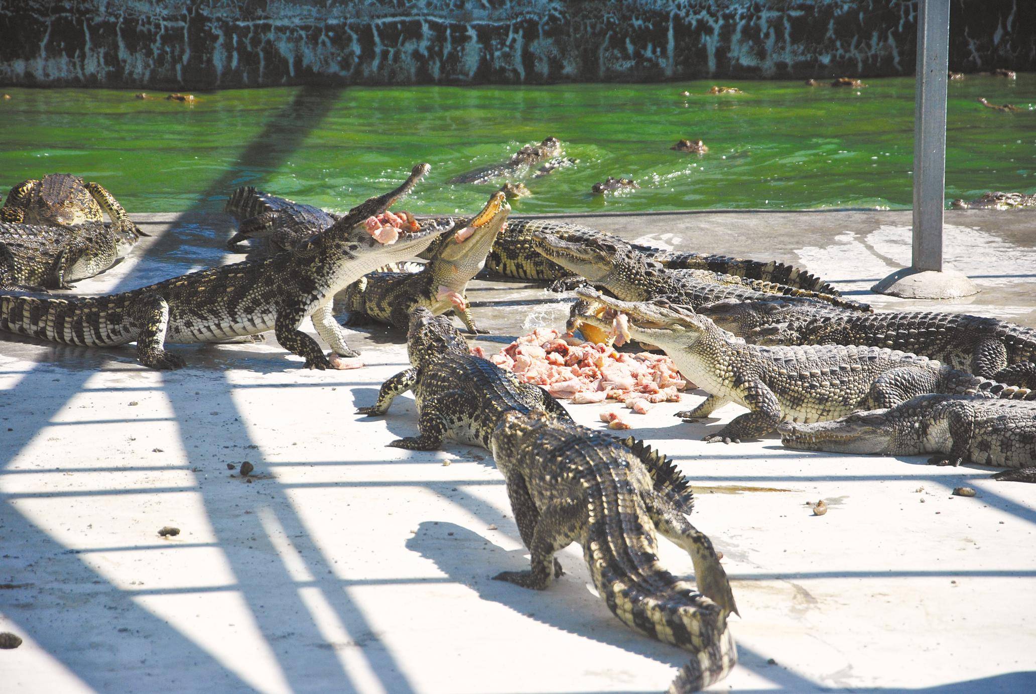
[(618, 236), (591, 227), (554, 220), (512, 218), (508, 222), (508, 228), (496, 237), (493, 250), (486, 260), (486, 268), (495, 274), (519, 280), (555, 282), (578, 277), (571, 269), (553, 262), (534, 248), (533, 239), (544, 233), (572, 243), (600, 240), (616, 247), (630, 248), (669, 269), (706, 269), (808, 291), (836, 296), (838, 294), (834, 287), (818, 278), (783, 263), (744, 260), (706, 253), (662, 251), (642, 243), (630, 243)]

